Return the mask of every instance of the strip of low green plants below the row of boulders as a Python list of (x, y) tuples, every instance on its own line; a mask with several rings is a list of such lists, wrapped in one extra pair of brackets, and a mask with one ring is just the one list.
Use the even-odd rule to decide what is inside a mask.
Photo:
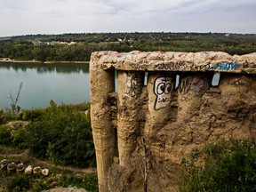
[[(85, 188), (90, 192), (97, 192), (98, 178), (96, 173), (74, 173), (61, 169), (52, 169), (52, 174), (44, 177), (43, 175), (26, 175), (2, 171), (4, 180), (0, 180), (0, 191), (12, 192), (41, 192), (53, 186), (68, 188)], [(6, 190), (4, 190), (6, 189)]]

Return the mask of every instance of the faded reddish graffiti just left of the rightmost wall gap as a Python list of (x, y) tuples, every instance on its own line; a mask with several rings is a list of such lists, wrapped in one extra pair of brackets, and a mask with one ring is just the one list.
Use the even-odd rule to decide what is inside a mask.
[(195, 76), (191, 82), (190, 89), (197, 97), (201, 97), (210, 88), (208, 79), (205, 76)]

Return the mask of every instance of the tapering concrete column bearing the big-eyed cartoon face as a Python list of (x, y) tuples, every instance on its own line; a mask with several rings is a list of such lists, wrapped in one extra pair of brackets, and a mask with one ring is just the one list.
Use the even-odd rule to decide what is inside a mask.
[(147, 137), (175, 118), (171, 106), (175, 77), (172, 73), (148, 73), (148, 116), (144, 130)]

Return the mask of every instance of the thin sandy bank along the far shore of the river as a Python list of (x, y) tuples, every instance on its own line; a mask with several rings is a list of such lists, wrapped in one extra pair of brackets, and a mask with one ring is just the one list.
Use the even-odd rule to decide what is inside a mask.
[(10, 62), (10, 63), (43, 63), (43, 64), (56, 64), (56, 63), (61, 63), (61, 64), (88, 64), (90, 61), (39, 61), (39, 60), (12, 60), (10, 58), (0, 58), (0, 62)]

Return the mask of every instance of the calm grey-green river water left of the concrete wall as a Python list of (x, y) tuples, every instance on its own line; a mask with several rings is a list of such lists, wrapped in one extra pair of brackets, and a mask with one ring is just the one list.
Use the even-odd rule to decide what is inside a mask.
[(20, 108), (90, 101), (90, 77), (87, 64), (0, 63), (0, 109), (10, 108), (22, 84)]

